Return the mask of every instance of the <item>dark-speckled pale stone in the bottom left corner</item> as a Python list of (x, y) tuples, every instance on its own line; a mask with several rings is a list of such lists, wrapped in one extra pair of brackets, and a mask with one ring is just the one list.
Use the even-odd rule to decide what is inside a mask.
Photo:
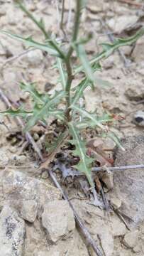
[(0, 255), (23, 255), (25, 223), (15, 210), (4, 206), (0, 215)]

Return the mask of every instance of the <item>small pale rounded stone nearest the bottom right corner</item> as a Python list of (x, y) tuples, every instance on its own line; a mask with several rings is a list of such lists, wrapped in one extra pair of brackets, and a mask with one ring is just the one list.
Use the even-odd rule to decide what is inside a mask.
[(129, 248), (135, 247), (137, 242), (138, 242), (138, 230), (131, 231), (124, 236), (123, 243)]

